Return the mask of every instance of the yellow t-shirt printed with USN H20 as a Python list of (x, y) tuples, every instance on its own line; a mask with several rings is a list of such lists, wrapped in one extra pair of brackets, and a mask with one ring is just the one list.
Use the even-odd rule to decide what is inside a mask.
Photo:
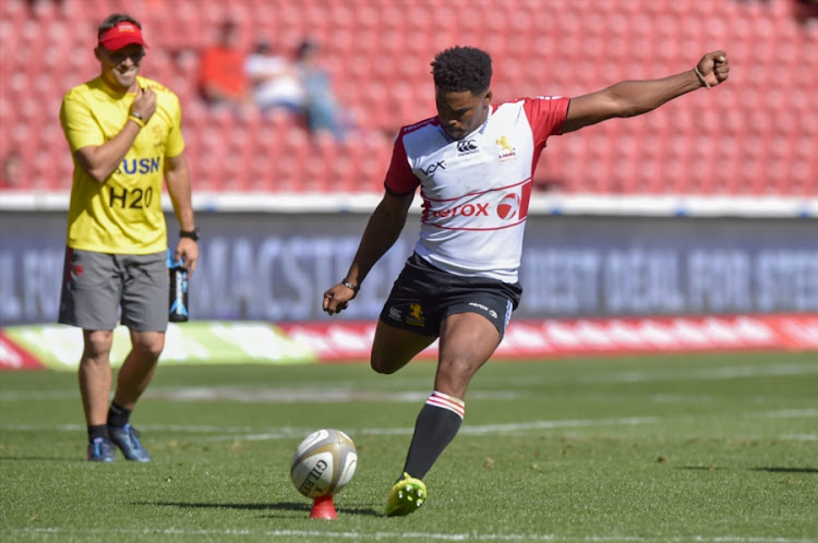
[[(177, 95), (146, 77), (142, 88), (156, 93), (156, 112), (140, 131), (122, 164), (103, 183), (74, 159), (68, 246), (110, 254), (149, 254), (167, 249), (161, 209), (165, 158), (184, 150)], [(134, 93), (117, 93), (100, 77), (77, 85), (62, 99), (60, 123), (71, 155), (103, 145), (128, 122)]]

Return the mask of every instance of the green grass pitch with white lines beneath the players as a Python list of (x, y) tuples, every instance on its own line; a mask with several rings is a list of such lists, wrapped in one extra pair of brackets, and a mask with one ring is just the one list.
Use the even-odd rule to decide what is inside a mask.
[[(1, 373), (0, 541), (818, 542), (818, 354), (493, 361), (426, 504), (386, 518), (433, 372), (160, 367), (145, 464), (85, 461), (73, 373)], [(320, 427), (359, 454), (335, 521), (289, 481)]]

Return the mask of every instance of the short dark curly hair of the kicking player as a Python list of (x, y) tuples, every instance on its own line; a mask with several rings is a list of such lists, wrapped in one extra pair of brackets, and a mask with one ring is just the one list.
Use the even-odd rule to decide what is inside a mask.
[(492, 58), (476, 47), (450, 47), (435, 55), (432, 76), (436, 87), (447, 93), (488, 90), (492, 82)]

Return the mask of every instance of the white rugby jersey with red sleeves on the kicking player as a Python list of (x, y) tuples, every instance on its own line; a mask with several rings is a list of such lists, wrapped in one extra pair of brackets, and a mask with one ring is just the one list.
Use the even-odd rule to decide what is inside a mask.
[(549, 136), (562, 133), (569, 101), (538, 97), (492, 106), (485, 122), (460, 141), (437, 117), (404, 126), (384, 185), (393, 194), (420, 185), (414, 251), (452, 274), (517, 282), (534, 168)]

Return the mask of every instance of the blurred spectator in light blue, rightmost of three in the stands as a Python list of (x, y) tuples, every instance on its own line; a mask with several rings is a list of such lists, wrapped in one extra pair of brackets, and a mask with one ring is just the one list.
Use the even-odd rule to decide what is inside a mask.
[(318, 62), (318, 45), (303, 40), (296, 52), (296, 68), (306, 93), (306, 125), (313, 133), (329, 132), (342, 140), (346, 122), (333, 93), (329, 73)]

